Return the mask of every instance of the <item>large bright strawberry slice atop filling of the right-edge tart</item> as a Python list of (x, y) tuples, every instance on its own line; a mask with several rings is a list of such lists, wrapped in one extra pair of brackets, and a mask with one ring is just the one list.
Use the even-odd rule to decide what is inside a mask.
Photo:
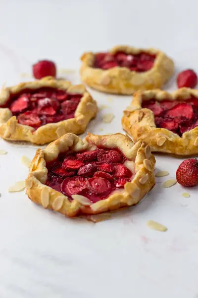
[(179, 117), (181, 116), (186, 117), (187, 119), (192, 119), (194, 115), (193, 107), (189, 103), (179, 103), (166, 112), (165, 116), (169, 117)]

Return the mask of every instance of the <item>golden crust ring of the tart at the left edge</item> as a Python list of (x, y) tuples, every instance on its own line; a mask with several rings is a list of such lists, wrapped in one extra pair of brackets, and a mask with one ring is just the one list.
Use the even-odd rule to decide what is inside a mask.
[(10, 93), (18, 93), (24, 89), (39, 89), (41, 87), (58, 88), (71, 93), (83, 94), (75, 111), (75, 118), (49, 123), (35, 130), (33, 127), (19, 124), (16, 116), (12, 116), (10, 109), (0, 108), (0, 137), (10, 141), (28, 141), (43, 145), (56, 140), (65, 133), (84, 133), (88, 123), (96, 116), (98, 108), (96, 101), (82, 84), (71, 85), (69, 81), (56, 80), (52, 76), (47, 76), (40, 80), (3, 88), (0, 94), (0, 105), (6, 102)]

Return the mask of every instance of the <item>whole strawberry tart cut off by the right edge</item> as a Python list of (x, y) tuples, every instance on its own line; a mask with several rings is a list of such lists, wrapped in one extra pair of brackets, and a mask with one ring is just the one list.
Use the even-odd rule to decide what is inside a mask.
[(122, 127), (134, 142), (147, 142), (151, 151), (197, 155), (198, 90), (138, 91), (124, 111)]

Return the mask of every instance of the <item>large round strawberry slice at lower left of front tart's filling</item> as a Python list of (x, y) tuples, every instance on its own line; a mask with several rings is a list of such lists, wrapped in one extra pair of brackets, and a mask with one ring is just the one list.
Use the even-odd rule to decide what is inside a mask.
[(65, 178), (60, 186), (60, 189), (61, 192), (68, 197), (80, 194), (84, 189), (86, 189), (86, 178), (78, 176)]

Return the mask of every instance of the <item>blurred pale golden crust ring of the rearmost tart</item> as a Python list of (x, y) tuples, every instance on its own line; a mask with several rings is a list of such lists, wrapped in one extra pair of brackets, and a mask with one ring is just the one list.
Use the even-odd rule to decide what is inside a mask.
[(109, 53), (123, 51), (128, 54), (139, 54), (146, 51), (156, 55), (154, 66), (144, 73), (130, 71), (125, 67), (109, 70), (93, 68), (94, 53), (84, 53), (81, 57), (81, 79), (88, 86), (99, 91), (115, 94), (133, 94), (138, 90), (161, 88), (174, 73), (174, 63), (164, 53), (155, 49), (137, 49), (129, 46), (116, 46)]

